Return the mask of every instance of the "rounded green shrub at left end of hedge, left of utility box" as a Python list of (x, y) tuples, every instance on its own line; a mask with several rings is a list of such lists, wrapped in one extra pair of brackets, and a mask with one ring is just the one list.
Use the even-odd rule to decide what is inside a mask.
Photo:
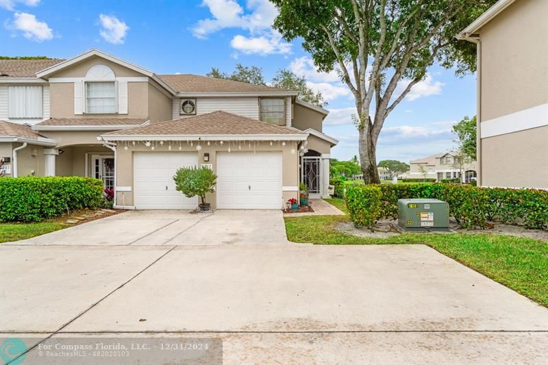
[(347, 188), (347, 207), (356, 227), (373, 228), (382, 216), (382, 192), (378, 186), (352, 185)]

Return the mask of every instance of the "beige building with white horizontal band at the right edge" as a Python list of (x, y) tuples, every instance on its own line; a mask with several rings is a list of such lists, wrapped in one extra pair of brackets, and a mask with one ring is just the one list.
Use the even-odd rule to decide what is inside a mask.
[(500, 0), (458, 34), (477, 45), (481, 186), (548, 188), (547, 19), (546, 0)]

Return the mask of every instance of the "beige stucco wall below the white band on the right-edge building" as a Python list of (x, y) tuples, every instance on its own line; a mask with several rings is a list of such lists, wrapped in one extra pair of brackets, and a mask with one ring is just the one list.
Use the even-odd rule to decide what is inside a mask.
[(482, 186), (547, 189), (548, 126), (484, 138)]

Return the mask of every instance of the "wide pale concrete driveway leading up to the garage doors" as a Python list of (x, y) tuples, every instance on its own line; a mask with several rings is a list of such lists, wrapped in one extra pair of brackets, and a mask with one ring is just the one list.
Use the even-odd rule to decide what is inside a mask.
[(221, 338), (225, 364), (545, 363), (546, 308), (422, 245), (289, 244), (276, 214), (128, 212), (1, 245), (0, 337)]

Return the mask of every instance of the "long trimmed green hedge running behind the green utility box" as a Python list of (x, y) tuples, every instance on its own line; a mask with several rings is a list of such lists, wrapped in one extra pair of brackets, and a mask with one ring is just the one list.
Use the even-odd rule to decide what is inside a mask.
[[(362, 192), (355, 191), (364, 188), (368, 189), (365, 193), (368, 198), (363, 198)], [(360, 201), (354, 201), (370, 201), (369, 197), (373, 194), (369, 191), (371, 188), (380, 192), (380, 210), (377, 210), (376, 203), (369, 208)], [(486, 228), (489, 221), (548, 229), (548, 191), (545, 190), (477, 188), (456, 184), (379, 184), (347, 186), (346, 197), (351, 218), (371, 216), (366, 221), (352, 219), (358, 226), (372, 227), (378, 219), (397, 218), (398, 199), (440, 199), (449, 203), (449, 215), (466, 229)]]

